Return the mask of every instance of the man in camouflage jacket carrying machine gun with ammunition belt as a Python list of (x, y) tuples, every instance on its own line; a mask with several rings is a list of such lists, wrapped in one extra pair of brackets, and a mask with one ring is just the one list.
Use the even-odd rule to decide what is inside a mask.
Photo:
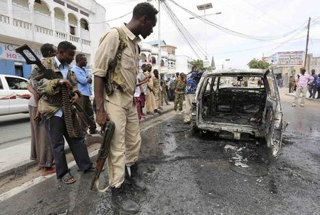
[[(67, 110), (67, 107), (63, 110), (62, 103), (58, 102), (59, 98), (63, 98), (62, 86), (67, 88), (70, 95), (72, 95), (70, 100), (71, 104), (77, 103), (81, 96), (77, 88), (75, 73), (69, 69), (69, 64), (75, 56), (75, 50), (76, 47), (73, 46), (72, 43), (62, 41), (58, 44), (57, 56), (44, 58), (41, 61), (46, 69), (53, 70), (60, 78), (52, 80), (42, 78), (38, 80), (36, 78), (39, 73), (38, 67), (36, 67), (31, 74), (32, 83), (37, 93), (41, 95), (38, 110), (45, 120), (46, 132), (49, 136), (51, 147), (53, 148), (57, 179), (60, 179), (65, 184), (75, 182), (75, 178), (70, 174), (67, 159), (65, 158), (65, 140), (68, 142), (80, 171), (95, 171), (87, 152), (82, 132), (77, 134), (78, 137), (70, 137), (66, 127), (67, 125), (65, 124), (64, 112)], [(65, 140), (63, 137), (65, 137)]]

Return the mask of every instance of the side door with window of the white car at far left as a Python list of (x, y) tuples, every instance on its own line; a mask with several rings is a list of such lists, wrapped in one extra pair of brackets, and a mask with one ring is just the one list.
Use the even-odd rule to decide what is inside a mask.
[(31, 98), (31, 93), (28, 91), (28, 80), (14, 76), (5, 78), (11, 94), (9, 112), (28, 112), (28, 100)]

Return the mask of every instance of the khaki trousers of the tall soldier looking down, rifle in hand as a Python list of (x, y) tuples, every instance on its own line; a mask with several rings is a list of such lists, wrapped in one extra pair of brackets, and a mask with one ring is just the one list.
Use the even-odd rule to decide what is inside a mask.
[(131, 166), (139, 156), (141, 137), (137, 106), (132, 103), (131, 108), (124, 109), (105, 100), (105, 110), (115, 124), (107, 157), (109, 184), (111, 187), (120, 187), (124, 182), (126, 164)]

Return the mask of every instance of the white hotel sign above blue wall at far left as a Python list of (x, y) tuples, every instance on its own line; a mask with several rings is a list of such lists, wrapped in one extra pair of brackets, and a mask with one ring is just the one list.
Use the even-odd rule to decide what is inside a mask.
[[(18, 46), (9, 43), (0, 43), (0, 58), (12, 61), (25, 61), (24, 58), (14, 51)], [(42, 58), (41, 51), (38, 49), (32, 49), (38, 58)]]

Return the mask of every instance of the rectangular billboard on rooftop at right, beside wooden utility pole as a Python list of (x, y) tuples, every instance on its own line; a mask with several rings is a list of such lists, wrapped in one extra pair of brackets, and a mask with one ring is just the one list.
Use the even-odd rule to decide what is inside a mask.
[(278, 52), (277, 56), (279, 66), (304, 65), (304, 51)]

